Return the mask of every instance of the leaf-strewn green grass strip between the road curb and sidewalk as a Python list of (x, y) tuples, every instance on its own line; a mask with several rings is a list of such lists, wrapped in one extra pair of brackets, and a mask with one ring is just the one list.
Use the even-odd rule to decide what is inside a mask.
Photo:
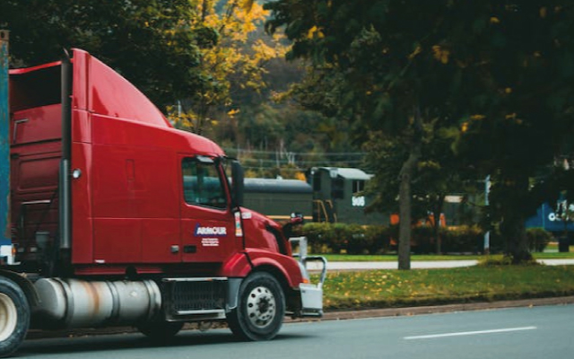
[(574, 266), (331, 272), (323, 289), (327, 311), (544, 298), (574, 294)]

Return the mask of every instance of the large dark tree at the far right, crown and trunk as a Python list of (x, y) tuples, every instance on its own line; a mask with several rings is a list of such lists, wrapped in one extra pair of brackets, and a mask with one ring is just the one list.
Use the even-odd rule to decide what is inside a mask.
[(457, 148), (491, 174), (491, 220), (500, 226), (506, 254), (520, 263), (531, 258), (525, 220), (548, 199), (540, 194), (552, 196), (559, 173), (554, 159), (571, 144), (574, 9), (544, 1), (482, 7), (474, 14), (472, 43), (460, 51), (459, 61), (473, 59), (475, 69), (465, 75), (479, 91), (469, 96)]

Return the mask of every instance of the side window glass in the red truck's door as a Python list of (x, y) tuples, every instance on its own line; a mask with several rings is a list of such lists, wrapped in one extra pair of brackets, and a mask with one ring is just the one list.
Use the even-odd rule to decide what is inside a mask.
[(189, 205), (226, 208), (222, 179), (213, 162), (195, 158), (182, 161), (183, 196)]

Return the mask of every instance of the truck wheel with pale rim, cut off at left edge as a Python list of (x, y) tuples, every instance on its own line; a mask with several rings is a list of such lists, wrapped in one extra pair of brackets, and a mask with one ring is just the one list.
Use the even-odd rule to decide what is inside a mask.
[(20, 286), (0, 277), (0, 356), (18, 349), (30, 327), (30, 304)]

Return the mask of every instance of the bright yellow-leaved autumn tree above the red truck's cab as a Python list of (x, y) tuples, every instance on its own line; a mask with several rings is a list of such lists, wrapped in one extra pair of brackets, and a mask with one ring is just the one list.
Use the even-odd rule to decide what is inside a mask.
[(204, 81), (170, 107), (170, 118), (176, 126), (202, 134), (221, 117), (240, 112), (234, 92), (265, 88), (265, 64), (283, 57), (286, 46), (280, 35), (262, 33), (269, 12), (253, 0), (195, 1), (200, 9), (196, 28), (213, 31), (214, 39), (200, 49), (198, 70)]

